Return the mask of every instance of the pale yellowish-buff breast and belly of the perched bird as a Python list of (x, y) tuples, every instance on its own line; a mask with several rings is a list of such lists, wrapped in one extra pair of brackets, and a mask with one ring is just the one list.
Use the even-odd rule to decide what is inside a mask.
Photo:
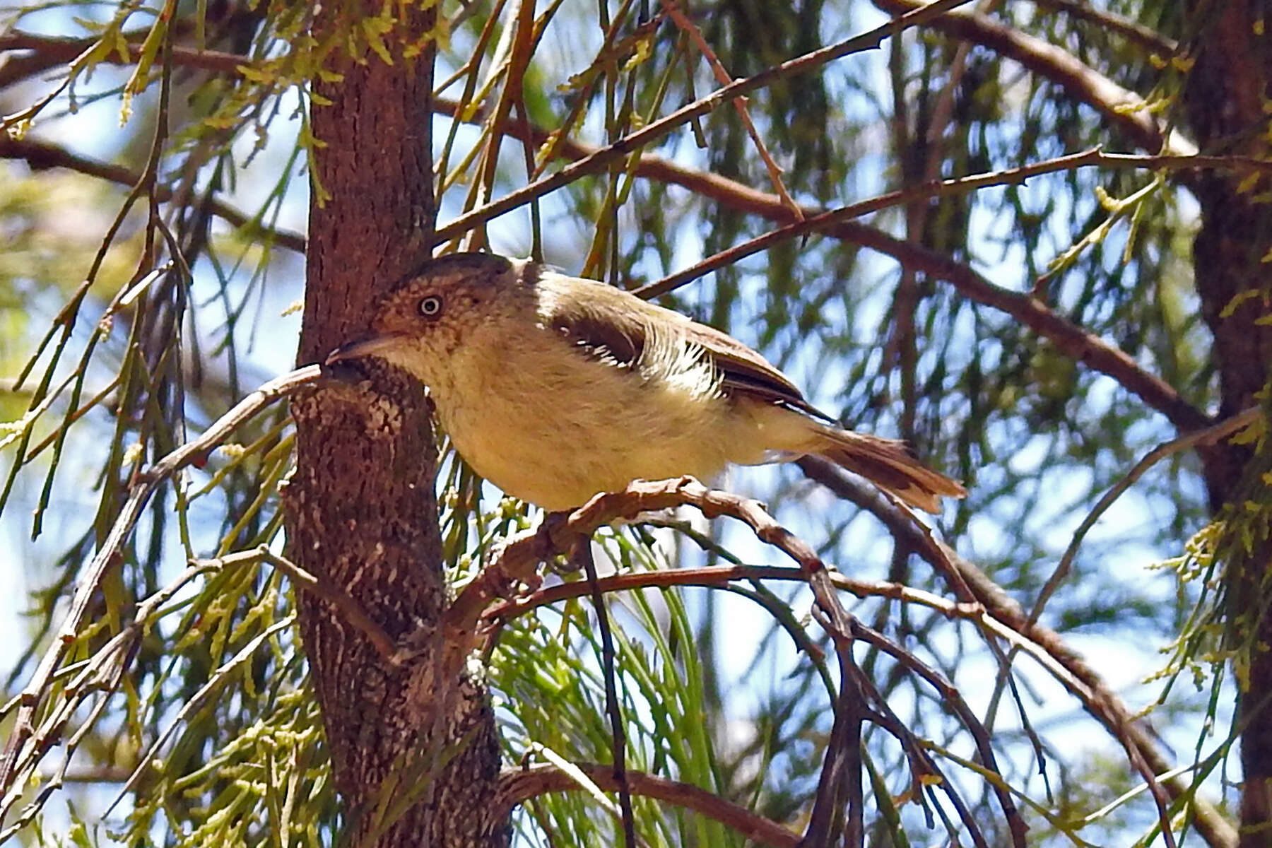
[(544, 509), (579, 506), (636, 478), (710, 478), (729, 456), (729, 402), (683, 367), (618, 366), (546, 329), (457, 351), (450, 364), (432, 388), (455, 449), (483, 478)]

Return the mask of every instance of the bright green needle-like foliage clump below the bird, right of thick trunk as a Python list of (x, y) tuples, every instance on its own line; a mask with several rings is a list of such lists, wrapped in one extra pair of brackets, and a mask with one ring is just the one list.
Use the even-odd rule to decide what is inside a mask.
[[(604, 552), (623, 571), (665, 568), (650, 551), (622, 533)], [(607, 614), (616, 632), (623, 711), (628, 717), (628, 768), (670, 777), (729, 795), (717, 773), (714, 727), (702, 689), (695, 628), (679, 592), (623, 592)], [(533, 657), (533, 662), (528, 661)], [(602, 648), (590, 601), (569, 601), (560, 615), (539, 613), (508, 627), (491, 655), (490, 681), (499, 701), (510, 763), (566, 760), (604, 763), (612, 755), (599, 678)], [(547, 760), (552, 762), (552, 760)], [(523, 812), (570, 844), (614, 844), (621, 830), (593, 811), (584, 793), (546, 796)], [(637, 806), (641, 835), (651, 845), (743, 845), (719, 823), (650, 801)], [(530, 829), (533, 830), (533, 829)]]

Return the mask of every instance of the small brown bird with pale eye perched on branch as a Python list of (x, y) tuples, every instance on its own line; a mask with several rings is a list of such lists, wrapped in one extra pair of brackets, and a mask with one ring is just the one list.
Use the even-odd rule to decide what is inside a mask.
[(418, 378), (473, 470), (546, 510), (639, 478), (805, 454), (929, 512), (967, 493), (903, 442), (834, 426), (731, 336), (529, 261), (429, 261), (383, 297), (371, 329), (327, 364), (378, 356)]

